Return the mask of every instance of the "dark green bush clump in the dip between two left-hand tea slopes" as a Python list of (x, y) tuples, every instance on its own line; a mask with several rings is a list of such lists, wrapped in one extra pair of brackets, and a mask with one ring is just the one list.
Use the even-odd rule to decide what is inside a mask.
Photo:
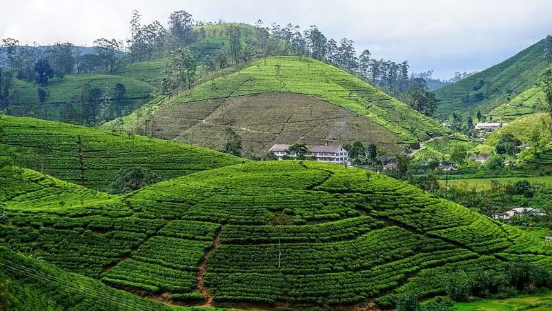
[(161, 180), (158, 174), (152, 173), (147, 168), (123, 168), (115, 175), (110, 192), (124, 194), (144, 188), (146, 185), (159, 183)]

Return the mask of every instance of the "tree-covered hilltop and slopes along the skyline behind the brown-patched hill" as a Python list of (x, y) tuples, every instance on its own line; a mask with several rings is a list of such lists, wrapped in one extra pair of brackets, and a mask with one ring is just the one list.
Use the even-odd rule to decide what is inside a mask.
[[(357, 54), (351, 39), (328, 39), (316, 26), (264, 26), (194, 21), (185, 11), (168, 23), (143, 23), (132, 12), (128, 39), (99, 38), (93, 47), (70, 42), (0, 48), (0, 110), (6, 114), (98, 126), (201, 83), (210, 72), (255, 59), (293, 55), (342, 68), (424, 114), (435, 112), (429, 86), (442, 82), (408, 72), (408, 61)], [(428, 81), (428, 83), (426, 83)]]

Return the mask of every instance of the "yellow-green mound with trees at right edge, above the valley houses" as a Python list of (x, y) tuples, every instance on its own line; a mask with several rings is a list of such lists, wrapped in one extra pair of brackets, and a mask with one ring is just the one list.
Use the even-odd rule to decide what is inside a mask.
[[(522, 158), (537, 165), (552, 165), (552, 139), (550, 133), (550, 115), (546, 113), (529, 114), (515, 119), (500, 130), (493, 132), (484, 146), (495, 147), (504, 134), (528, 143), (529, 150), (522, 152)], [(488, 147), (487, 147), (488, 148)]]

